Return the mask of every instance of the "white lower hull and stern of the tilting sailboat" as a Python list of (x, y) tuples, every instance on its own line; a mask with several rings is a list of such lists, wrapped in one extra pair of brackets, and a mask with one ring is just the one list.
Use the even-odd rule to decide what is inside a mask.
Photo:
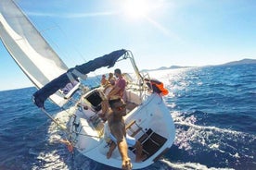
[[(118, 149), (112, 153), (110, 159), (107, 159), (109, 146), (104, 139), (104, 123), (100, 122), (100, 119), (90, 120), (90, 117), (94, 116), (93, 112), (85, 113), (81, 109), (76, 111), (76, 120), (71, 118), (68, 123), (68, 128), (77, 132), (77, 134), (73, 133), (71, 140), (74, 141), (75, 148), (84, 156), (98, 163), (120, 168), (122, 159)], [(172, 146), (175, 136), (173, 118), (160, 95), (151, 94), (144, 103), (135, 107), (124, 119), (126, 125), (135, 122), (127, 128), (127, 133), (133, 136), (133, 133), (137, 131), (134, 138), (142, 142), (144, 154), (147, 155), (145, 161), (135, 163), (135, 154), (129, 150), (134, 169), (153, 164)], [(79, 126), (75, 128), (73, 122)]]

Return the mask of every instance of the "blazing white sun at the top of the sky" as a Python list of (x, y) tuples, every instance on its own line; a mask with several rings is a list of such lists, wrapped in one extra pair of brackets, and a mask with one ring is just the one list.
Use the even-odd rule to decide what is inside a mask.
[(123, 2), (123, 13), (129, 18), (145, 18), (153, 9), (149, 0), (126, 0)]

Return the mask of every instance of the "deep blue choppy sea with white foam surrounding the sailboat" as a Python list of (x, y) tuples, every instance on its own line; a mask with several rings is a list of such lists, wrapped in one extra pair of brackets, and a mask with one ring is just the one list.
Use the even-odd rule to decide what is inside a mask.
[[(255, 70), (250, 64), (149, 72), (170, 91), (164, 100), (176, 132), (171, 149), (144, 169), (256, 169)], [(61, 130), (32, 103), (34, 91), (0, 91), (0, 170), (117, 169), (55, 142)], [(58, 111), (50, 102), (45, 107)]]

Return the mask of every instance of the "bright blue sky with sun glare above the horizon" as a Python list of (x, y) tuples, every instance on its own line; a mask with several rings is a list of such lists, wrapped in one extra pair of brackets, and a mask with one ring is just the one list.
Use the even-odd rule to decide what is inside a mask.
[[(16, 2), (69, 67), (122, 48), (140, 69), (256, 59), (254, 0)], [(32, 86), (3, 44), (0, 57), (0, 91)]]

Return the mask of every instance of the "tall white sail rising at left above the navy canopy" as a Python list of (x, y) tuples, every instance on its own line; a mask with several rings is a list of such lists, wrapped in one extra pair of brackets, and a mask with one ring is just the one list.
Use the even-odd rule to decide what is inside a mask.
[[(68, 70), (12, 0), (0, 1), (0, 37), (9, 54), (38, 89)], [(60, 106), (63, 104), (59, 92), (50, 98)]]

